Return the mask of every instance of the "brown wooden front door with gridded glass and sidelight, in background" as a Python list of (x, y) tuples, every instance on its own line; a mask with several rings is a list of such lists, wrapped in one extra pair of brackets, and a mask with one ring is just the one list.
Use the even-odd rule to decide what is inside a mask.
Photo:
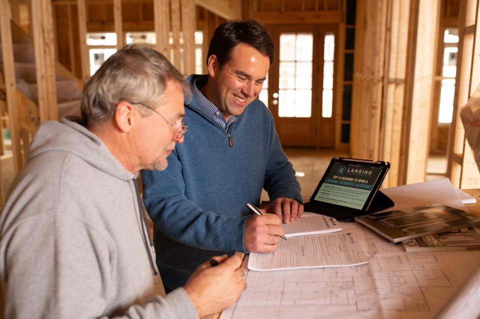
[(275, 60), (262, 95), (282, 146), (331, 148), (336, 25), (269, 25)]

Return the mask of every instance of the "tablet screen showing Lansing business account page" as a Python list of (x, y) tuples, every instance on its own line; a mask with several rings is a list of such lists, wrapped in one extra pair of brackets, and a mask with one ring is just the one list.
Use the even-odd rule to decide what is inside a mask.
[(378, 165), (334, 161), (313, 199), (361, 210), (382, 170)]

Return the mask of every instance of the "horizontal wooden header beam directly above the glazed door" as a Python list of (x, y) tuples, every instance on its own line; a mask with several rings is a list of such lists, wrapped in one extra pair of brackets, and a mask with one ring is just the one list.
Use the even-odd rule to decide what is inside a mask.
[(252, 12), (264, 24), (321, 24), (342, 21), (341, 10)]

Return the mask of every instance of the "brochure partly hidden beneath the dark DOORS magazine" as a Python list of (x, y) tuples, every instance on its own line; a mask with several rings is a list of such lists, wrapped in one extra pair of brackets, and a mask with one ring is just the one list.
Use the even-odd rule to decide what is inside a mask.
[(480, 249), (480, 228), (473, 226), (409, 239), (403, 242), (403, 247), (406, 252), (478, 250)]

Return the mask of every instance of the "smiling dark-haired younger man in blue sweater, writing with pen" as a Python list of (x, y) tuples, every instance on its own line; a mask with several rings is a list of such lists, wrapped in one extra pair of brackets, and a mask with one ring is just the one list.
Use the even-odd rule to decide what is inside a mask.
[[(186, 282), (195, 265), (221, 253), (272, 252), (279, 224), (301, 216), (300, 186), (265, 105), (257, 99), (273, 61), (273, 41), (255, 20), (218, 26), (208, 75), (191, 75), (185, 104), (189, 138), (165, 171), (143, 171), (157, 265), (167, 289)], [(271, 203), (252, 216), (264, 188)], [(273, 215), (275, 214), (275, 215)]]

